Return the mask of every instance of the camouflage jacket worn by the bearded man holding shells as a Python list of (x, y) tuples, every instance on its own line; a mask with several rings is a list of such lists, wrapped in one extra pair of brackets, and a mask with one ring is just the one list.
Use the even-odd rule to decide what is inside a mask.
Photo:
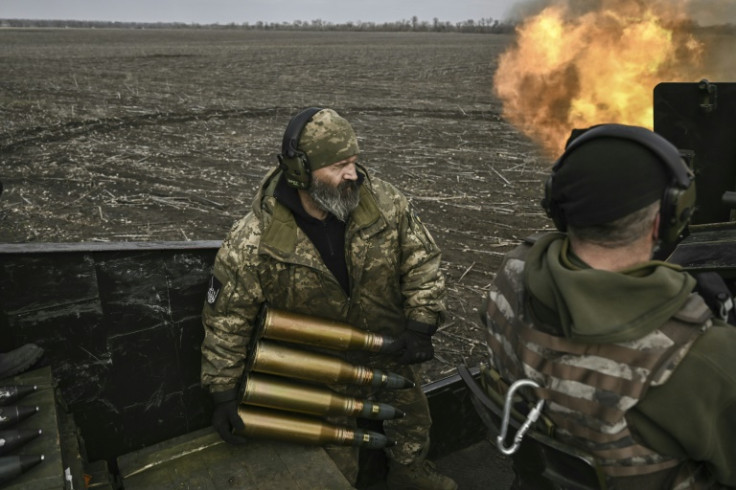
[(211, 391), (239, 382), (264, 302), (381, 335), (400, 333), (407, 320), (438, 325), (444, 315), (440, 250), (394, 186), (376, 178), (361, 186), (346, 226), (346, 295), (274, 197), (280, 177), (278, 170), (266, 176), (252, 211), (234, 225), (215, 260), (203, 310), (202, 383)]

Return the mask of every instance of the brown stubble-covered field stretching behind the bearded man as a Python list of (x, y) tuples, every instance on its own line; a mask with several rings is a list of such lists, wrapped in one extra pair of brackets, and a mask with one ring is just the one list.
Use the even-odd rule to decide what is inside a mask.
[(220, 240), (290, 117), (332, 107), (355, 127), (361, 162), (411, 198), (443, 250), (448, 315), (427, 379), (475, 365), (501, 257), (549, 225), (549, 162), (492, 91), (511, 41), (0, 29), (0, 242)]

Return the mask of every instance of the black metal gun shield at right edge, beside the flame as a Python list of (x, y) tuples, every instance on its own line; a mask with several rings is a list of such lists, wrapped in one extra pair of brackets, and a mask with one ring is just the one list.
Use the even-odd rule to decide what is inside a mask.
[(736, 290), (736, 83), (660, 83), (654, 131), (689, 156), (697, 198), (685, 238), (667, 260), (716, 272)]

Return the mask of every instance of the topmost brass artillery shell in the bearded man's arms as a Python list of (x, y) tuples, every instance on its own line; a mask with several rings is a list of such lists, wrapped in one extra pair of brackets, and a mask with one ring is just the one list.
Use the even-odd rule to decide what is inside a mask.
[(364, 332), (347, 323), (299, 315), (266, 307), (261, 312), (261, 335), (267, 339), (334, 350), (390, 351), (395, 340)]

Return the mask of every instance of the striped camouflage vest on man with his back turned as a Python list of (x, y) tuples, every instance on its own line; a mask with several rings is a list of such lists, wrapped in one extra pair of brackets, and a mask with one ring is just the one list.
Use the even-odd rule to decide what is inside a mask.
[[(596, 456), (608, 477), (647, 475), (682, 461), (637, 443), (626, 412), (650, 386), (669, 379), (698, 336), (711, 324), (703, 299), (691, 295), (680, 311), (642, 338), (583, 344), (536, 329), (523, 287), (528, 246), (511, 252), (489, 292), (484, 322), (490, 362), (507, 382), (529, 378), (546, 401), (555, 437)], [(683, 482), (684, 483), (684, 482)], [(684, 485), (688, 487), (687, 483)]]

